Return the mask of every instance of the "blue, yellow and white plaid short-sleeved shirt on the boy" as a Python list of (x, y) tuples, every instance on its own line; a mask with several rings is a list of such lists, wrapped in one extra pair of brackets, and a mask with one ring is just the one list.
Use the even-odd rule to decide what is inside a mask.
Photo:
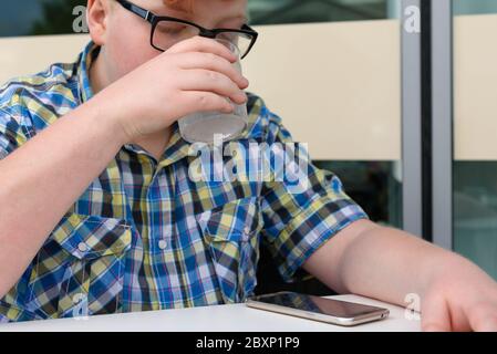
[[(90, 43), (75, 63), (0, 88), (0, 159), (92, 97), (97, 53)], [(292, 142), (259, 97), (249, 95), (248, 112), (240, 146)], [(366, 218), (338, 177), (309, 160), (308, 188), (290, 192), (284, 180), (194, 181), (189, 149), (177, 124), (159, 160), (124, 145), (0, 299), (0, 322), (242, 302), (260, 247), (291, 282), (320, 246)]]

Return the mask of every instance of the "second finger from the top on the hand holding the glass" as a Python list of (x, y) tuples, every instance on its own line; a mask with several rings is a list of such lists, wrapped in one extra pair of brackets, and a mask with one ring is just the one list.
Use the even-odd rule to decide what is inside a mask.
[(248, 80), (239, 73), (225, 58), (213, 53), (180, 53), (175, 60), (182, 69), (205, 69), (225, 74), (240, 88), (248, 87)]

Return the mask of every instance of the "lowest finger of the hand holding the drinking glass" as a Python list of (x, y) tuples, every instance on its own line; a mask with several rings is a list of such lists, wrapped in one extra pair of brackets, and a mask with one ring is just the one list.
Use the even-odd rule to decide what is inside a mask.
[(209, 111), (231, 113), (234, 111), (232, 105), (226, 100), (226, 97), (222, 97), (213, 92), (186, 91), (182, 93), (180, 100), (183, 106), (187, 107), (184, 114)]

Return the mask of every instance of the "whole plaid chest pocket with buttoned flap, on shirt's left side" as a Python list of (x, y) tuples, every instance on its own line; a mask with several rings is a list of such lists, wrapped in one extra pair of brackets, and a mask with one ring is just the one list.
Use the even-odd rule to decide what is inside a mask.
[(34, 260), (28, 306), (50, 317), (120, 312), (132, 236), (122, 219), (64, 217)]

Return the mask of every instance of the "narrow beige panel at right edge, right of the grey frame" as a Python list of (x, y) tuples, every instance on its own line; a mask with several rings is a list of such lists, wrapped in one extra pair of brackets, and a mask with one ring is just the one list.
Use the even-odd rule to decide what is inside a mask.
[(455, 158), (497, 160), (497, 15), (454, 22)]

